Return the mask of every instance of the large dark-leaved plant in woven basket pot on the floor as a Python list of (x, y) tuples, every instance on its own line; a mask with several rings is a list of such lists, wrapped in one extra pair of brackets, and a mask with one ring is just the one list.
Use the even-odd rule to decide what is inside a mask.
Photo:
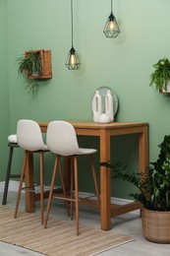
[(111, 168), (113, 178), (127, 180), (139, 189), (131, 196), (142, 203), (144, 236), (153, 242), (170, 243), (170, 135), (158, 147), (158, 159), (140, 173), (127, 172), (119, 162), (100, 164)]

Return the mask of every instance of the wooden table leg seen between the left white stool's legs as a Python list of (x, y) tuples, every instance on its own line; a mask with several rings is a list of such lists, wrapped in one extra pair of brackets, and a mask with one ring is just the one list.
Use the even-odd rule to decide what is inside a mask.
[(28, 154), (26, 165), (26, 212), (33, 213), (34, 211), (34, 183), (33, 183), (33, 154)]

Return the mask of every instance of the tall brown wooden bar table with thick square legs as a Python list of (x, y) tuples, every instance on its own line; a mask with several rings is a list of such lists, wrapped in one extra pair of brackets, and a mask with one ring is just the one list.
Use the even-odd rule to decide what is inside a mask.
[[(140, 122), (112, 122), (109, 124), (99, 124), (92, 121), (68, 121), (76, 129), (77, 135), (97, 136), (100, 139), (100, 161), (110, 160), (111, 136), (139, 134), (139, 160), (140, 170), (144, 171), (148, 166), (148, 141), (147, 123)], [(42, 132), (46, 132), (48, 122), (39, 123)], [(28, 171), (26, 176), (27, 186), (33, 184), (32, 156), (28, 159)], [(100, 167), (100, 197), (101, 197), (101, 228), (109, 230), (111, 228), (111, 217), (125, 214), (141, 208), (141, 204), (133, 202), (123, 206), (111, 204), (110, 197), (110, 169)], [(31, 192), (26, 195), (26, 211), (33, 212), (34, 198)]]

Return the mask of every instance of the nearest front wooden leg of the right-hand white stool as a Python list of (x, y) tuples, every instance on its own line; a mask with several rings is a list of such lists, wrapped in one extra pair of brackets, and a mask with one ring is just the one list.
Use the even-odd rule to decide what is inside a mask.
[(78, 160), (74, 157), (74, 174), (75, 174), (75, 200), (76, 200), (76, 224), (77, 235), (79, 235), (79, 187), (78, 187)]

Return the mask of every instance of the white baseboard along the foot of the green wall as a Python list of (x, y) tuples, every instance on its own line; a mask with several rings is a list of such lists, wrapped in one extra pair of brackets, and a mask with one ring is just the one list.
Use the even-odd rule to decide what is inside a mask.
[[(4, 192), (4, 186), (5, 186), (5, 181), (1, 181), (0, 182), (0, 193)], [(10, 180), (8, 191), (17, 192), (18, 188), (19, 188), (19, 181)], [(90, 193), (85, 193), (85, 192), (80, 192), (80, 196), (82, 196), (82, 197), (91, 197), (92, 198), (92, 195)], [(129, 204), (129, 203), (132, 203), (132, 202), (133, 202), (132, 200), (127, 200), (127, 199), (124, 199), (124, 198), (111, 197), (111, 203), (115, 204), (115, 205), (125, 205), (125, 204)], [(131, 213), (133, 215), (140, 215), (140, 210), (136, 210), (136, 211), (133, 211)]]

